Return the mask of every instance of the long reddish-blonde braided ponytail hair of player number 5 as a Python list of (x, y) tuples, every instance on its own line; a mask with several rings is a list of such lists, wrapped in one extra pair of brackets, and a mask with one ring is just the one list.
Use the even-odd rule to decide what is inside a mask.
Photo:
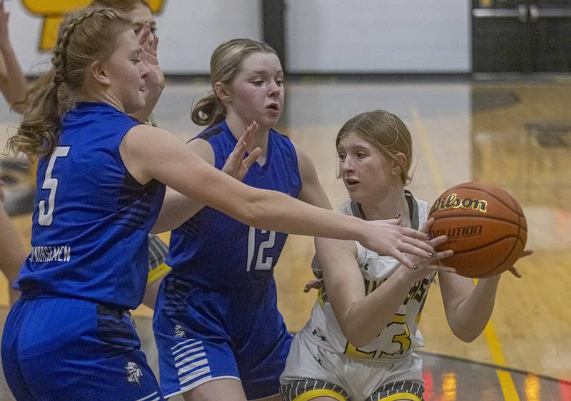
[(8, 148), (28, 156), (49, 156), (59, 142), (61, 113), (84, 85), (86, 70), (96, 60), (113, 53), (118, 36), (132, 29), (121, 11), (88, 6), (66, 14), (58, 29), (52, 67), (38, 78), (28, 105)]

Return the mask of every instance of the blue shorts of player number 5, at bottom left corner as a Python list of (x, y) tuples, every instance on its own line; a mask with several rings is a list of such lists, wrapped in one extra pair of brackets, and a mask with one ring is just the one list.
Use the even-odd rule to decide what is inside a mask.
[(21, 298), (2, 335), (16, 400), (164, 400), (128, 313), (74, 298)]

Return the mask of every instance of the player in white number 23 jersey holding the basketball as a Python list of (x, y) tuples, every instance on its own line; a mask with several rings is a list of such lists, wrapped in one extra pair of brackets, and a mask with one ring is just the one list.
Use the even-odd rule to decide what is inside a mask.
[[(400, 118), (382, 110), (361, 113), (340, 129), (335, 145), (350, 196), (340, 215), (401, 215), (403, 225), (429, 232), (427, 203), (405, 190), (413, 150)], [(417, 268), (411, 270), (358, 242), (317, 238), (316, 248), (313, 268), (324, 286), (293, 340), (281, 375), (283, 400), (423, 400), (422, 360), (414, 350), (423, 345), (418, 321), (437, 270), (448, 323), (460, 340), (475, 340), (490, 319), (500, 276), (474, 287), (472, 279), (438, 264), (452, 250), (413, 258)]]

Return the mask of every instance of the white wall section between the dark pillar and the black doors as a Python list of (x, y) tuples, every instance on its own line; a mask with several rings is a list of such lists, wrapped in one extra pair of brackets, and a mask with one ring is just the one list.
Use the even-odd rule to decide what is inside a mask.
[(286, 0), (290, 72), (468, 72), (469, 1)]

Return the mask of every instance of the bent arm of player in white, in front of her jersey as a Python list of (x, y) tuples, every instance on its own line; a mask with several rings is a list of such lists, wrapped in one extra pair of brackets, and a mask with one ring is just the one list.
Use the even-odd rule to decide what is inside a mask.
[[(430, 240), (430, 245), (436, 247), (445, 241), (443, 235)], [(403, 304), (410, 287), (438, 268), (436, 260), (452, 253), (450, 250), (436, 252), (428, 259), (411, 256), (415, 269), (401, 265), (379, 288), (365, 296), (363, 275), (355, 260), (355, 243), (316, 238), (315, 248), (335, 318), (345, 337), (355, 347), (368, 344), (387, 327)]]

